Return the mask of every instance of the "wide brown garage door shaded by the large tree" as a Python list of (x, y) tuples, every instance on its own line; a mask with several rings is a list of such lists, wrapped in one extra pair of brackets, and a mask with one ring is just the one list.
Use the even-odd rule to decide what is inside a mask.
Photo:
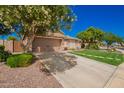
[(58, 51), (61, 46), (61, 39), (35, 38), (32, 44), (33, 52)]

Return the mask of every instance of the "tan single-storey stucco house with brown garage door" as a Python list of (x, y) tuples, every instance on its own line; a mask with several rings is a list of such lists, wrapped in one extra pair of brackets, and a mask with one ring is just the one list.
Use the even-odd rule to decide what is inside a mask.
[(63, 51), (80, 48), (81, 40), (65, 36), (63, 32), (49, 32), (47, 36), (36, 36), (32, 43), (33, 52)]

